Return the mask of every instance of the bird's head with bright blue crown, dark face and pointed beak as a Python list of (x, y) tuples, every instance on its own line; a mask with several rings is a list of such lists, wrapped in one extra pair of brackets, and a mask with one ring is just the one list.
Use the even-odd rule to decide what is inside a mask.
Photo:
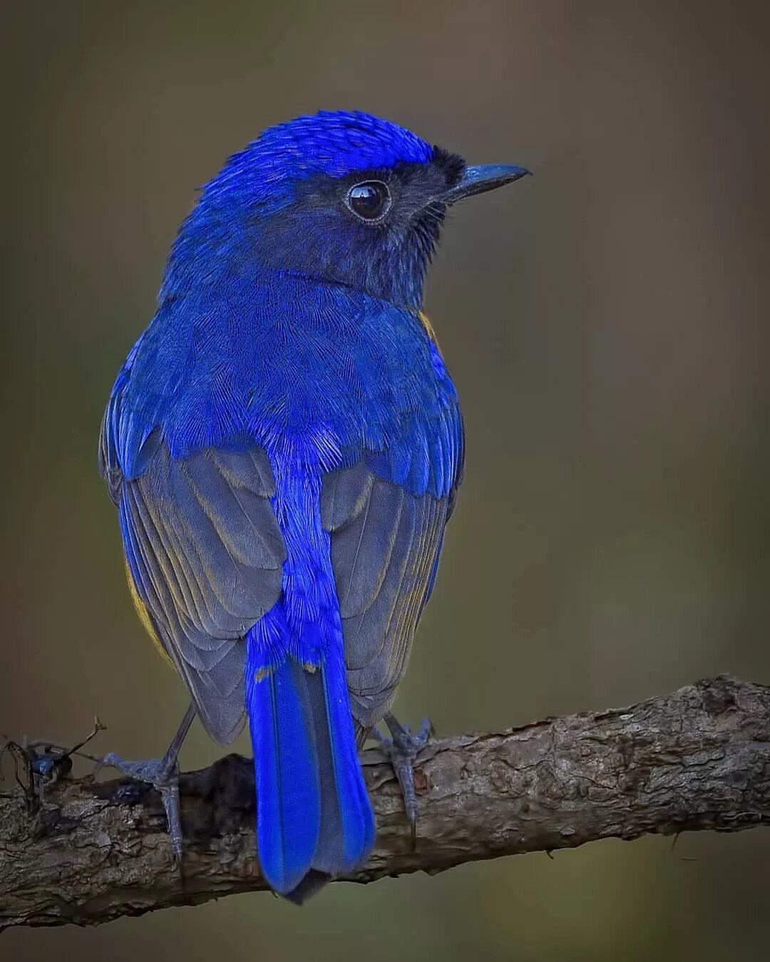
[(526, 173), (469, 166), (370, 114), (298, 117), (269, 128), (203, 188), (162, 297), (269, 270), (420, 307), (449, 205)]

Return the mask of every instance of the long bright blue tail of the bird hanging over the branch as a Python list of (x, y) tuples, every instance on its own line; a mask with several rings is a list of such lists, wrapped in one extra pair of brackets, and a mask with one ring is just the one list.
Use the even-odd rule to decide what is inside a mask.
[(374, 842), (343, 654), (329, 652), (317, 669), (285, 656), (265, 671), (251, 633), (246, 646), (260, 866), (275, 892), (301, 902), (360, 865)]

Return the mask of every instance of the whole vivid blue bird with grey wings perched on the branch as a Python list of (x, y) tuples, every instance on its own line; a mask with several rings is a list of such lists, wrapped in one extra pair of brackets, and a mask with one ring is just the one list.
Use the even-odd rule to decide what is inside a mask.
[(526, 173), (327, 111), (231, 156), (179, 228), (99, 439), (137, 614), (191, 696), (163, 758), (104, 762), (159, 788), (178, 858), (195, 716), (220, 745), (248, 722), (287, 899), (366, 861), (358, 752), (383, 720), (414, 821), (426, 730), (391, 708), (465, 451), (424, 277), (449, 207)]

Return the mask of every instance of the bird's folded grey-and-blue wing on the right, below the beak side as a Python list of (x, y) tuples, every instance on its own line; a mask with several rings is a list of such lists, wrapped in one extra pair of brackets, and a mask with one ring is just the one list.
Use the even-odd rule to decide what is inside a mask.
[(456, 403), (424, 430), (410, 431), (408, 440), (326, 475), (321, 493), (347, 683), (353, 714), (364, 727), (378, 722), (395, 696), (435, 581), (462, 472)]

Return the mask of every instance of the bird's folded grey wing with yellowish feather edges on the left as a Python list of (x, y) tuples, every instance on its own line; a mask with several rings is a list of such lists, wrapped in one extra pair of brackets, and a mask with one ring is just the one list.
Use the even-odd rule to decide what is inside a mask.
[(156, 428), (132, 458), (141, 473), (129, 479), (118, 457), (129, 419), (114, 394), (100, 462), (118, 507), (129, 586), (209, 734), (227, 744), (244, 723), (244, 697), (233, 697), (244, 686), (242, 640), (278, 600), (286, 558), (268, 456), (258, 447), (207, 448), (176, 460)]

